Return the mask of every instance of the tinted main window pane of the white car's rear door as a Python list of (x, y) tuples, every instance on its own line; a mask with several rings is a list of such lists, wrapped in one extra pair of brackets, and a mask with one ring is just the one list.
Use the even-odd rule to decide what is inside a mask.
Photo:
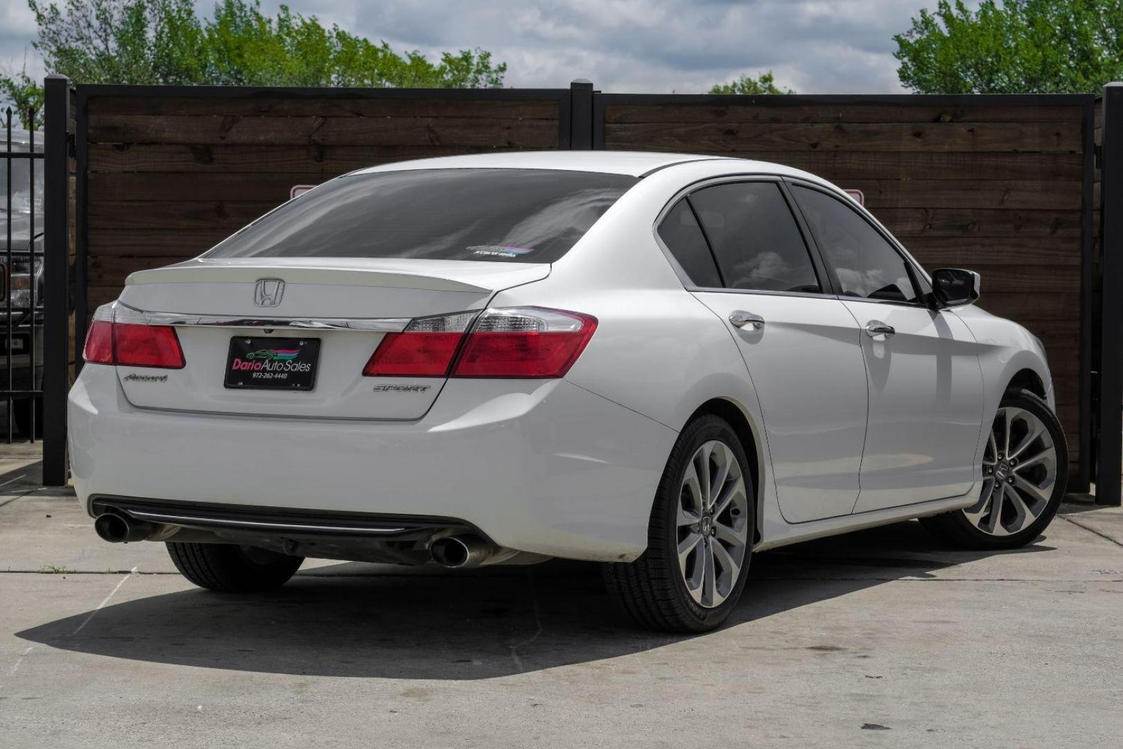
[(731, 182), (690, 197), (728, 289), (819, 292), (795, 217), (775, 182)]

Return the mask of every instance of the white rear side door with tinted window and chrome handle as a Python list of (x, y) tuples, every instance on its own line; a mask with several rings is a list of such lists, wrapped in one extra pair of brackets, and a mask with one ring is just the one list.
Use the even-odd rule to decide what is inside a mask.
[(658, 234), (687, 289), (740, 347), (784, 518), (848, 514), (866, 432), (860, 330), (824, 293), (822, 265), (780, 184), (701, 186), (667, 211)]

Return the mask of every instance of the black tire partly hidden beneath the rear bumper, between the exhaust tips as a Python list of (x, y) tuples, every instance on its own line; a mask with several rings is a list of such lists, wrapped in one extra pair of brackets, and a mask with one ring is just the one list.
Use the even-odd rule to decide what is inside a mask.
[(304, 557), (234, 544), (167, 542), (180, 574), (199, 587), (221, 593), (262, 593), (284, 585)]

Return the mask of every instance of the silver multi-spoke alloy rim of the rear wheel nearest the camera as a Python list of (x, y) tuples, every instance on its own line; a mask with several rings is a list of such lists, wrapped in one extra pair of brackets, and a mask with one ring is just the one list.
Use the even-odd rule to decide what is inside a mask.
[(749, 501), (733, 451), (710, 440), (691, 458), (678, 491), (678, 569), (705, 609), (733, 592), (749, 545)]

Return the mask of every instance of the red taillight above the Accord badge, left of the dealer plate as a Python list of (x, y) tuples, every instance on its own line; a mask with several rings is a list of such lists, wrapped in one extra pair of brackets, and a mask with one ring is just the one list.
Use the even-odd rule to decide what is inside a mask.
[[(128, 313), (122, 312), (121, 316)], [(83, 358), (91, 364), (180, 369), (183, 349), (175, 329), (143, 322), (120, 322), (111, 308), (99, 309), (85, 337)]]

